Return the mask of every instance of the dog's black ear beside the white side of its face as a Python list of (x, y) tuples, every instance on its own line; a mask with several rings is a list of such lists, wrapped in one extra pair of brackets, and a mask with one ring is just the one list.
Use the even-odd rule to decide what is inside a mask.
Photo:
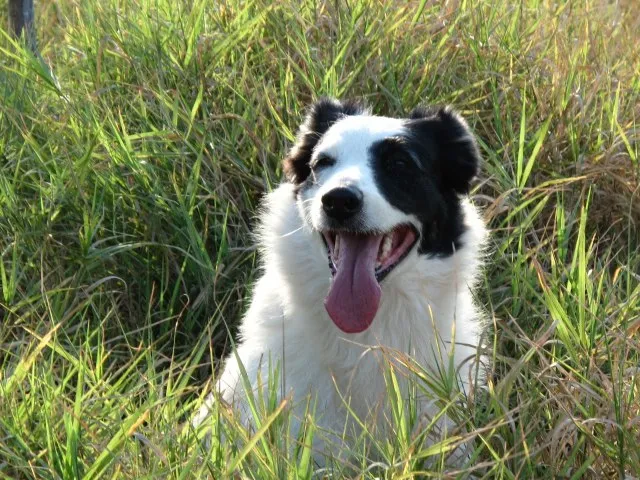
[(340, 102), (333, 98), (320, 98), (311, 105), (298, 130), (296, 143), (284, 159), (283, 170), (286, 179), (295, 184), (304, 182), (311, 173), (309, 161), (320, 137), (342, 117), (360, 115), (364, 112), (365, 108), (356, 102)]

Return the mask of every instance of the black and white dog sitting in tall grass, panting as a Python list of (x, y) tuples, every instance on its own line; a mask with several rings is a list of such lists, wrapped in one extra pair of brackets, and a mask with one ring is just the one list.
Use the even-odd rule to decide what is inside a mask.
[[(251, 425), (244, 385), (266, 390), (276, 365), (294, 429), (309, 396), (324, 431), (349, 423), (355, 432), (349, 418), (376, 411), (382, 424), (380, 351), (453, 366), (468, 390), (481, 376), (483, 315), (473, 291), (487, 231), (466, 198), (479, 164), (451, 108), (389, 118), (356, 102), (314, 103), (284, 159), (286, 181), (264, 201), (262, 276), (240, 340), (193, 425), (206, 424), (216, 399)], [(421, 408), (437, 415), (427, 401)], [(331, 441), (348, 448), (344, 435)], [(329, 443), (316, 435), (316, 458)]]

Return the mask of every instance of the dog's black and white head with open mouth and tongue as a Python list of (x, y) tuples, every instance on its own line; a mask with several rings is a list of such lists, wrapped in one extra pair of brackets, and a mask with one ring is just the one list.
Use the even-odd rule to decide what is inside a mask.
[(380, 282), (411, 252), (448, 256), (462, 247), (460, 195), (478, 163), (466, 123), (448, 108), (403, 119), (333, 99), (310, 108), (284, 171), (304, 222), (327, 247), (325, 307), (340, 329), (369, 327)]

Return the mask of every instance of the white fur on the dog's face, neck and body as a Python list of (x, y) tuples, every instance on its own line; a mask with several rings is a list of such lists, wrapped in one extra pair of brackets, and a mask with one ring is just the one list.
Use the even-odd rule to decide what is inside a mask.
[[(384, 117), (340, 120), (314, 151), (314, 158), (325, 153), (338, 159), (337, 163), (320, 171), (297, 200), (288, 183), (266, 197), (259, 230), (264, 273), (240, 327), (242, 341), (236, 355), (227, 360), (217, 387), (222, 399), (234, 405), (246, 423), (251, 423), (251, 415), (236, 359), (244, 365), (254, 389), (259, 373), (266, 383), (269, 364), (279, 362), (284, 372), (283, 393), (293, 396), (294, 415), (303, 415), (305, 399), (311, 394), (317, 401), (317, 423), (336, 432), (344, 430), (347, 420), (345, 399), (362, 417), (384, 400), (381, 350), (370, 347), (384, 346), (410, 355), (425, 368), (446, 369), (451, 353), (460, 368), (461, 387), (468, 388), (481, 333), (481, 316), (471, 290), (486, 231), (467, 200), (463, 200), (467, 230), (459, 251), (438, 258), (418, 255), (413, 248), (382, 281), (380, 307), (366, 331), (343, 333), (323, 305), (330, 284), (327, 252), (318, 233), (323, 226), (323, 193), (338, 185), (357, 185), (364, 193), (369, 228), (385, 231), (407, 222), (419, 227), (415, 218), (394, 208), (380, 194), (366, 160), (373, 141), (400, 134), (402, 128), (399, 120)], [(213, 401), (213, 396), (207, 399), (195, 425), (203, 422)], [(315, 447), (325, 446), (318, 441)]]

